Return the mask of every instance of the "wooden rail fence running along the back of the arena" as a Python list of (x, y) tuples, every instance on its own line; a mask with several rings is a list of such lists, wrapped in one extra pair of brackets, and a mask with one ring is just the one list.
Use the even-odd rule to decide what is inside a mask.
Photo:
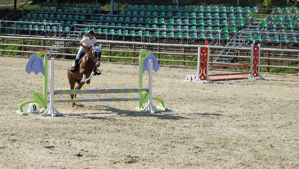
[[(0, 36), (1, 39), (1, 56), (5, 56), (5, 52), (18, 52), (21, 53), (20, 56), (26, 56), (26, 54), (31, 54), (35, 52), (24, 50), (25, 47), (34, 47), (37, 49), (46, 49), (48, 56), (50, 57), (62, 57), (66, 59), (67, 57), (74, 57), (76, 54), (71, 54), (71, 50), (78, 50), (78, 47), (67, 47), (69, 44), (77, 44), (79, 46), (80, 40), (75, 39), (56, 39), (56, 38), (40, 38), (40, 37), (10, 37), (10, 36)], [(4, 41), (6, 39), (10, 40), (22, 40), (22, 44), (6, 44)], [(25, 41), (39, 41), (40, 45), (26, 45)], [(49, 45), (52, 42), (56, 45)], [(111, 61), (112, 58), (118, 59), (132, 59), (133, 63), (135, 60), (138, 60), (138, 55), (141, 49), (147, 49), (151, 53), (156, 54), (157, 60), (164, 62), (179, 62), (182, 65), (186, 63), (197, 63), (197, 61), (190, 61), (190, 58), (197, 58), (197, 48), (198, 45), (181, 45), (181, 44), (167, 44), (167, 43), (141, 43), (141, 42), (124, 42), (124, 41), (106, 41), (106, 40), (98, 40), (98, 43), (103, 44), (102, 51), (108, 51), (108, 56), (103, 56), (103, 58), (109, 58)], [(57, 45), (58, 44), (58, 45)], [(7, 50), (4, 49), (5, 46), (19, 46), (22, 47), (21, 50)], [(210, 61), (215, 63), (215, 59), (225, 58), (236, 59), (238, 64), (242, 64), (244, 62), (248, 62), (250, 60), (250, 51), (251, 48), (247, 47), (224, 47), (224, 46), (210, 46)], [(233, 54), (219, 54), (221, 51), (234, 51)], [(276, 49), (276, 48), (261, 48), (261, 65), (260, 67), (267, 68), (267, 72), (269, 72), (270, 68), (285, 68), (285, 69), (296, 69), (299, 71), (299, 51), (296, 49)], [(123, 53), (133, 53), (133, 57), (116, 57), (112, 56), (112, 52), (123, 52)], [(161, 59), (160, 56), (170, 56), (176, 57), (177, 60), (170, 59)], [(31, 55), (30, 55), (31, 56)], [(189, 58), (186, 59), (186, 58)], [(196, 60), (196, 59), (195, 59)], [(291, 63), (290, 65), (297, 66), (281, 66), (280, 63)], [(219, 64), (223, 64), (223, 62), (219, 62)], [(229, 64), (229, 63), (228, 63)], [(239, 67), (240, 69), (240, 67)]]

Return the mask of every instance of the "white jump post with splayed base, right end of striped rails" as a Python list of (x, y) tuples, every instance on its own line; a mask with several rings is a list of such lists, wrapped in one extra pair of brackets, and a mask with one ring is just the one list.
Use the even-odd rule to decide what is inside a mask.
[(153, 87), (153, 60), (149, 60), (149, 103), (141, 110), (141, 112), (160, 112), (152, 103), (152, 87)]

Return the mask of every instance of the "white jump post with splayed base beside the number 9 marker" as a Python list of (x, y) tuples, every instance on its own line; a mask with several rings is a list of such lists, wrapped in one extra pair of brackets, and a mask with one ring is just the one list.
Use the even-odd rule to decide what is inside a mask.
[(53, 117), (62, 115), (62, 113), (59, 113), (54, 107), (54, 61), (50, 61), (50, 106), (45, 110), (45, 112), (40, 113), (40, 115)]

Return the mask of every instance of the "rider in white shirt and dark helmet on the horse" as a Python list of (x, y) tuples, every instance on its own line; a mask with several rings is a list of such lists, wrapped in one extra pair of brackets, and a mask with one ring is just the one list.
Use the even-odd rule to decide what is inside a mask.
[(93, 37), (94, 36), (94, 32), (93, 30), (88, 30), (87, 32), (87, 37), (83, 37), (83, 39), (80, 41), (79, 45), (80, 45), (80, 49), (78, 51), (76, 60), (75, 60), (75, 65), (70, 69), (70, 71), (72, 73), (75, 73), (78, 65), (79, 65), (79, 60), (80, 60), (80, 55), (86, 50), (86, 52), (88, 52), (88, 50), (92, 47), (92, 44), (96, 45), (96, 38)]

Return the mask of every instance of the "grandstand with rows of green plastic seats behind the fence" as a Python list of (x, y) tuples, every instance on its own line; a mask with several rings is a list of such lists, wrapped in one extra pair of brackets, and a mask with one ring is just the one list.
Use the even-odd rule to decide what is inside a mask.
[(1, 20), (1, 35), (81, 38), (88, 29), (106, 40), (297, 48), (298, 8), (128, 5), (115, 15), (100, 4), (43, 2), (16, 21)]

